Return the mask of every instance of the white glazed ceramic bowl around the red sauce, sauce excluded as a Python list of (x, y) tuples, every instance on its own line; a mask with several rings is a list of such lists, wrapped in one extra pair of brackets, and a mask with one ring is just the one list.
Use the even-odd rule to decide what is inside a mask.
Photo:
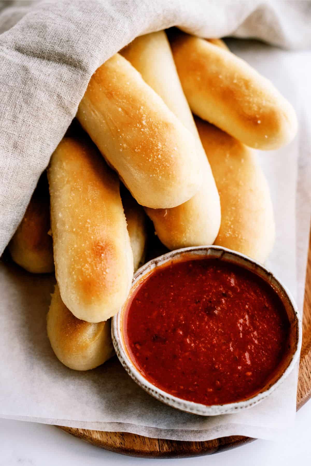
[[(192, 401), (187, 401), (182, 398), (175, 397), (166, 391), (160, 390), (158, 387), (153, 385), (142, 376), (142, 374), (136, 368), (135, 364), (131, 361), (128, 350), (126, 349), (124, 343), (124, 310), (127, 306), (128, 300), (131, 297), (131, 294), (138, 287), (138, 285), (143, 280), (145, 280), (148, 275), (152, 274), (152, 272), (157, 267), (165, 264), (166, 262), (171, 262), (172, 260), (179, 261), (182, 258), (189, 260), (192, 258), (197, 258), (198, 255), (201, 258), (207, 257), (237, 264), (240, 267), (246, 268), (262, 277), (264, 281), (272, 286), (276, 294), (280, 297), (287, 315), (289, 316), (290, 348), (284, 354), (281, 363), (279, 364), (277, 370), (271, 375), (268, 383), (266, 383), (266, 385), (260, 391), (258, 391), (256, 395), (253, 395), (252, 397), (243, 401), (206, 406), (205, 404), (194, 403)], [(140, 267), (134, 275), (130, 294), (126, 302), (118, 314), (112, 318), (111, 335), (113, 345), (120, 362), (131, 378), (135, 380), (135, 382), (141, 388), (143, 388), (153, 397), (157, 398), (159, 401), (162, 401), (163, 403), (168, 404), (173, 408), (177, 408), (181, 411), (187, 411), (193, 414), (199, 414), (201, 416), (217, 416), (219, 414), (234, 413), (236, 411), (249, 408), (250, 406), (254, 406), (264, 398), (268, 397), (280, 384), (282, 384), (283, 380), (289, 375), (295, 366), (295, 363), (299, 357), (302, 342), (301, 318), (290, 292), (284, 287), (284, 285), (282, 285), (282, 283), (269, 270), (267, 270), (265, 267), (263, 267), (263, 265), (259, 264), (255, 260), (252, 260), (243, 254), (236, 253), (227, 248), (219, 246), (197, 246), (178, 249), (152, 259)]]

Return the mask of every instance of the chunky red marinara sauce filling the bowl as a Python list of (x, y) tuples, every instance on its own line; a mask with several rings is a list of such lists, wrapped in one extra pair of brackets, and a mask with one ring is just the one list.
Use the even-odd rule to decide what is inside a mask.
[(125, 310), (125, 344), (160, 389), (211, 405), (251, 397), (288, 347), (290, 322), (256, 274), (217, 259), (165, 264)]

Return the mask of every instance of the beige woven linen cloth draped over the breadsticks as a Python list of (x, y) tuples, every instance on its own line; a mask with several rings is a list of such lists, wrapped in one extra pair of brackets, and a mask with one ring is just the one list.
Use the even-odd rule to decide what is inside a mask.
[(309, 1), (0, 1), (0, 254), (90, 76), (120, 48), (174, 25), (307, 48), (310, 19)]

